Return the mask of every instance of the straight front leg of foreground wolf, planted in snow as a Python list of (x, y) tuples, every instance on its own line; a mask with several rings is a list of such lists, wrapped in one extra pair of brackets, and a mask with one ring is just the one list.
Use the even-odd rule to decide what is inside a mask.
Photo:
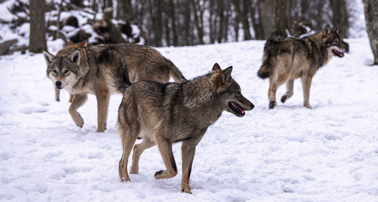
[(192, 165), (194, 155), (196, 154), (196, 146), (193, 145), (191, 140), (186, 140), (181, 146), (182, 156), (182, 178), (181, 178), (181, 191), (185, 193), (192, 193), (191, 186), (189, 185), (189, 178), (191, 177)]

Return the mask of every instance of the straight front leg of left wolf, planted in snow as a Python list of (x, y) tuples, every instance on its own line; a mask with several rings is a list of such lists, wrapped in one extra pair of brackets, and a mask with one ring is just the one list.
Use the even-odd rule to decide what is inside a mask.
[(97, 98), (97, 131), (104, 132), (106, 129), (106, 120), (108, 117), (108, 107), (110, 91), (109, 89), (99, 89), (96, 92)]

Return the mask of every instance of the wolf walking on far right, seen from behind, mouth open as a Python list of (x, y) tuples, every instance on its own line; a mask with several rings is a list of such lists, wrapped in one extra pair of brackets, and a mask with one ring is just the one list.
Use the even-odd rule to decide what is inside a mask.
[(337, 27), (331, 29), (327, 25), (323, 31), (303, 38), (273, 36), (267, 40), (258, 76), (269, 78), (269, 109), (277, 105), (277, 88), (285, 82), (287, 92), (281, 102), (285, 103), (293, 95), (296, 78), (302, 80), (304, 107), (312, 109), (309, 95), (313, 75), (333, 56), (342, 58), (349, 51), (348, 43), (337, 32)]

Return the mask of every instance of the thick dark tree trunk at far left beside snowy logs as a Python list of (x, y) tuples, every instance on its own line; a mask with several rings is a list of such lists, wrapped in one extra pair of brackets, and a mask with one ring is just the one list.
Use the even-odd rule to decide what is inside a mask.
[(45, 36), (45, 0), (30, 1), (29, 52), (42, 53), (47, 49)]

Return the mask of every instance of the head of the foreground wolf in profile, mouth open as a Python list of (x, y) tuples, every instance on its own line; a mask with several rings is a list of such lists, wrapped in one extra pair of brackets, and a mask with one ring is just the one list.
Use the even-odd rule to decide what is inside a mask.
[(242, 117), (245, 110), (254, 109), (254, 104), (249, 102), (240, 91), (240, 86), (231, 78), (232, 66), (221, 70), (215, 63), (213, 72), (216, 73), (214, 88), (218, 95), (221, 107), (235, 116)]

